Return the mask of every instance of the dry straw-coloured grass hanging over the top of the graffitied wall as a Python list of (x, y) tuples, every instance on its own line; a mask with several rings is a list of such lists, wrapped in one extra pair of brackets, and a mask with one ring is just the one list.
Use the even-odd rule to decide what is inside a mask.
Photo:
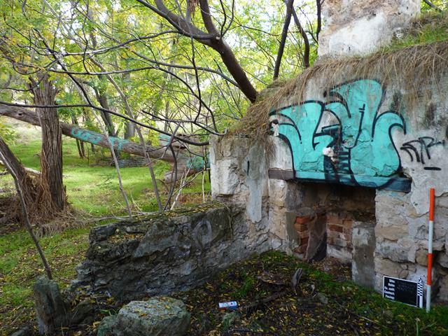
[[(269, 112), (290, 104), (299, 104), (304, 100), (307, 83), (325, 89), (357, 78), (372, 78), (381, 81), (383, 86), (389, 83), (399, 85), (407, 99), (417, 99), (422, 88), (431, 85), (440, 94), (441, 80), (448, 70), (448, 41), (409, 45), (400, 50), (381, 50), (369, 57), (346, 59), (322, 59), (304, 70), (299, 76), (268, 87), (260, 94), (258, 102), (248, 109), (234, 134), (251, 137), (254, 141), (266, 143), (269, 134)], [(407, 102), (412, 103), (412, 102)]]

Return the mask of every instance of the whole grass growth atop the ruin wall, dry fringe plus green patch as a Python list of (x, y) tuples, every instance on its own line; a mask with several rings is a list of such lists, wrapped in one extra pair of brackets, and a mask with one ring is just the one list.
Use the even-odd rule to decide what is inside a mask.
[(409, 105), (428, 94), (428, 87), (433, 89), (433, 94), (444, 97), (444, 78), (448, 73), (447, 13), (422, 15), (403, 34), (372, 55), (319, 59), (299, 76), (272, 83), (249, 107), (233, 133), (265, 144), (269, 135), (269, 112), (300, 104), (309, 83), (328, 92), (345, 81), (372, 78), (384, 87), (391, 83), (400, 87), (406, 92), (405, 103)]

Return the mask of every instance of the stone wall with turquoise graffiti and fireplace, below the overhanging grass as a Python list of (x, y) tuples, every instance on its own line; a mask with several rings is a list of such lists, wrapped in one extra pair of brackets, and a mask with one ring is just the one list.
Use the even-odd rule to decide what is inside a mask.
[[(274, 155), (269, 160), (265, 146), (246, 137), (211, 140), (212, 195), (244, 207), (254, 225), (267, 225), (271, 248), (305, 260), (320, 258), (325, 248), (324, 254), (352, 263), (353, 280), (381, 290), (383, 275), (426, 281), (433, 187), (435, 295), (448, 300), (448, 96), (444, 94), (448, 76), (444, 78), (442, 87), (421, 88), (416, 99), (409, 99), (414, 92), (398, 83), (386, 87), (372, 79), (342, 83), (342, 95), (356, 92), (356, 97), (345, 97), (352, 116), (363, 109), (360, 128), (344, 116), (335, 120), (335, 113), (325, 110), (335, 106), (327, 105), (325, 87), (319, 84), (323, 81), (310, 80), (304, 94), (309, 101), (291, 106), (293, 97), (286, 97), (281, 106), (288, 107), (272, 114), (271, 122), (276, 123), (271, 124), (269, 138)], [(351, 85), (350, 90), (344, 85)], [(321, 103), (312, 106), (315, 102)], [(281, 128), (278, 116), (291, 120), (300, 113), (305, 118), (294, 119), (302, 135), (296, 145), (305, 154), (293, 151), (294, 134)], [(330, 146), (332, 133), (323, 130), (335, 123), (344, 124), (338, 136), (342, 146), (358, 136), (360, 151), (356, 146), (350, 149), (351, 179), (340, 162), (336, 168), (328, 165), (335, 153), (325, 148), (334, 143)]]

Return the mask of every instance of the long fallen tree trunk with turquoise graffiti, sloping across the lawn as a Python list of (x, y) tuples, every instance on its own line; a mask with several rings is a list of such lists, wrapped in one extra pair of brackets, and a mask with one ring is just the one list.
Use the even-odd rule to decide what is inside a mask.
[[(36, 126), (41, 125), (38, 116), (34, 111), (18, 106), (7, 106), (0, 104), (0, 116), (6, 116), (17, 120), (21, 120), (31, 125)], [(59, 125), (61, 125), (62, 134), (66, 135), (67, 137), (85, 141), (90, 144), (94, 144), (104, 148), (110, 148), (109, 141), (111, 141), (113, 148), (116, 149), (117, 151), (123, 151), (125, 153), (130, 153), (139, 156), (145, 156), (144, 147), (133, 141), (121, 139), (118, 137), (109, 137), (108, 141), (107, 137), (104, 136), (103, 134), (82, 129), (77, 125), (71, 125), (60, 122)], [(172, 153), (170, 153), (169, 151), (165, 151), (164, 147), (155, 147), (146, 145), (146, 152), (148, 153), (150, 158), (160, 159), (167, 162), (174, 162)]]

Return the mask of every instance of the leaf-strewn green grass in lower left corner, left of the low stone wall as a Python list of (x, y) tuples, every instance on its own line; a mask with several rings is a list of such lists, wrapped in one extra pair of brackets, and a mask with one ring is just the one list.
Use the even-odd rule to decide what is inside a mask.
[[(89, 226), (40, 239), (53, 278), (64, 288), (87, 249)], [(41, 259), (25, 230), (0, 236), (0, 335), (34, 318), (32, 285), (44, 274)]]

